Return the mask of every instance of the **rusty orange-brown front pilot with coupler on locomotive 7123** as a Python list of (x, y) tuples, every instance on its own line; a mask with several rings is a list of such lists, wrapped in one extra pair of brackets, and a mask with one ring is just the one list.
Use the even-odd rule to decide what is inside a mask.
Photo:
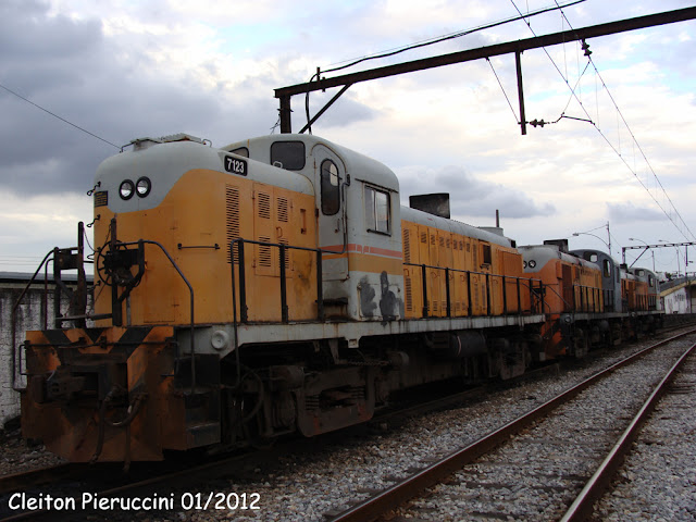
[(184, 427), (182, 415), (171, 414), (172, 333), (167, 326), (28, 333), (23, 435), (42, 438), (73, 462), (162, 459), (170, 444), (162, 424)]

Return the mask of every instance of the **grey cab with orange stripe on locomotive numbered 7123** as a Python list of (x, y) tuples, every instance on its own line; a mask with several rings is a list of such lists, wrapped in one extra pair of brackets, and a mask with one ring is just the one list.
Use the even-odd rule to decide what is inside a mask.
[(223, 148), (295, 172), (314, 187), (326, 319), (403, 316), (399, 183), (384, 164), (308, 135), (285, 134)]

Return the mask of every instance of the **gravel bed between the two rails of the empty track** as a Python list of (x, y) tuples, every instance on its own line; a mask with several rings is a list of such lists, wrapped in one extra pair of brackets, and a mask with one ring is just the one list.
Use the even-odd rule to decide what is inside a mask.
[(415, 500), (411, 511), (438, 521), (560, 519), (685, 348), (686, 343), (674, 343), (616, 371), (498, 450), (463, 467), (452, 484)]

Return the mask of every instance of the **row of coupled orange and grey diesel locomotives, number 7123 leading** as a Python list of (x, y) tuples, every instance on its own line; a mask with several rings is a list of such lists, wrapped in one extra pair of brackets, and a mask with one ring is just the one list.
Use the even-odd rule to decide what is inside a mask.
[(518, 248), (440, 195), (403, 207), (388, 167), (316, 136), (136, 139), (91, 194), (92, 303), (80, 237), (52, 253), (70, 310), (16, 355), (24, 436), (70, 461), (314, 436), (659, 322), (654, 274)]

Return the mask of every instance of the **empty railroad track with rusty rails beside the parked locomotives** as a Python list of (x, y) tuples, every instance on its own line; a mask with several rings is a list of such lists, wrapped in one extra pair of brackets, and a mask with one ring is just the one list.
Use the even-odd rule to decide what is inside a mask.
[[(666, 353), (675, 349), (656, 348), (683, 335), (613, 364), (465, 448), (424, 468), (421, 462), (410, 476), (326, 518), (366, 521), (388, 513), (395, 521), (408, 513), (411, 520), (586, 520), (670, 381), (667, 369), (673, 375), (673, 360), (683, 362), (694, 347), (672, 355), (669, 363)], [(652, 390), (641, 384), (656, 381)], [(602, 400), (607, 394), (613, 411)], [(445, 505), (450, 511), (443, 511)]]

